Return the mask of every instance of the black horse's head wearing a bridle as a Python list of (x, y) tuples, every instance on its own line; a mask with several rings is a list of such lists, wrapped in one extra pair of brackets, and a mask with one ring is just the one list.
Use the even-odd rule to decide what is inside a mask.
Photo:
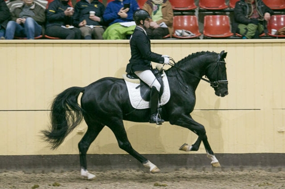
[(226, 52), (221, 51), (218, 54), (217, 60), (211, 63), (206, 69), (206, 77), (210, 80), (210, 84), (218, 97), (224, 97), (229, 94), (227, 90), (225, 57)]

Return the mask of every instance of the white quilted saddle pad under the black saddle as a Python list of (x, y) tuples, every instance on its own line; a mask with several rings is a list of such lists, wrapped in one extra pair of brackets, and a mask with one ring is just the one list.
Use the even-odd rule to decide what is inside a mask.
[[(126, 76), (125, 77), (123, 76), (123, 78), (124, 78), (126, 85), (127, 85), (127, 88), (128, 88), (128, 93), (129, 93), (129, 97), (130, 97), (132, 107), (135, 109), (150, 108), (150, 102), (145, 101), (140, 96), (140, 87), (136, 88), (140, 83), (139, 82), (136, 82), (136, 83), (130, 82), (130, 81), (128, 81), (130, 79), (126, 79)], [(168, 84), (167, 76), (165, 74), (163, 74), (162, 80), (163, 80), (164, 87), (163, 87), (163, 93), (161, 96), (160, 106), (166, 104), (170, 99), (169, 84)]]

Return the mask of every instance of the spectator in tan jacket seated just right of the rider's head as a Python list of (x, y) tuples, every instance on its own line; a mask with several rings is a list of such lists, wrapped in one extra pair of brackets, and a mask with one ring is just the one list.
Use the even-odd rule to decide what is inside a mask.
[(173, 33), (173, 10), (168, 0), (148, 0), (143, 7), (151, 15), (147, 34), (150, 39), (163, 39)]

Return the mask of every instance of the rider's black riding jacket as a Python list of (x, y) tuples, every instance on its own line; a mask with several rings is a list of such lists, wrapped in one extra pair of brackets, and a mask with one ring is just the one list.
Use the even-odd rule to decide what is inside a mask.
[(163, 64), (164, 58), (161, 54), (151, 51), (151, 41), (143, 28), (136, 26), (130, 39), (131, 58), (126, 72), (151, 70), (151, 61)]

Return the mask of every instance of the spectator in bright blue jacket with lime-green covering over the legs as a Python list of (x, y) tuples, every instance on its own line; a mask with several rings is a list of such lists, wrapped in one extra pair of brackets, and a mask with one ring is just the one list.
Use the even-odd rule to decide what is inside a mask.
[(135, 28), (133, 13), (136, 10), (139, 10), (136, 0), (109, 2), (103, 15), (104, 21), (108, 24), (103, 38), (108, 40), (128, 39)]

